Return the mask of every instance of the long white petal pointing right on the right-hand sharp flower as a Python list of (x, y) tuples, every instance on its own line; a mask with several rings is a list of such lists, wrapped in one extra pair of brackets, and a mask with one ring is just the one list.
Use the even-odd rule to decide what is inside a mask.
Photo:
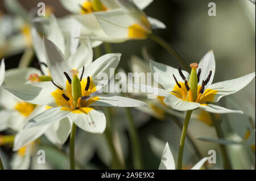
[(254, 77), (255, 77), (255, 72), (251, 74), (247, 74), (240, 78), (231, 79), (229, 81), (213, 83), (208, 87), (208, 89), (218, 91), (214, 96), (214, 100), (213, 100), (214, 102), (217, 102), (223, 96), (234, 94), (235, 92), (243, 89), (243, 87), (247, 86)]

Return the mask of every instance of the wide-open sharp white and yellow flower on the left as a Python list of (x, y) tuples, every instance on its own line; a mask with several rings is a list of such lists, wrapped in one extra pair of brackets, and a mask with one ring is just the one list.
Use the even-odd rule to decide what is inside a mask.
[[(51, 107), (32, 118), (16, 135), (14, 150), (35, 140), (46, 132), (50, 125), (65, 117), (84, 131), (104, 132), (105, 115), (102, 111), (94, 110), (92, 106), (146, 106), (143, 102), (134, 99), (100, 95), (102, 88), (112, 77), (110, 68), (117, 67), (121, 54), (106, 54), (98, 58), (86, 68), (83, 67), (78, 78), (78, 71), (70, 68), (69, 62), (64, 59), (63, 53), (52, 41), (44, 39), (44, 50), (52, 81), (6, 87), (15, 96), (28, 103)], [(102, 73), (108, 74), (108, 80), (98, 80)], [(70, 131), (69, 129), (63, 132)]]

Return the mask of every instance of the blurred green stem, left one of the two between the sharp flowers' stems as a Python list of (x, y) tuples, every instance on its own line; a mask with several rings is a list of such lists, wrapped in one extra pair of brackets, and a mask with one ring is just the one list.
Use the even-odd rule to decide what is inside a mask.
[(106, 115), (106, 129), (105, 129), (105, 138), (108, 141), (109, 149), (112, 153), (112, 169), (125, 169), (122, 161), (119, 159), (117, 150), (115, 149), (113, 143), (113, 134), (112, 134), (112, 122), (111, 122), (111, 112), (109, 107), (104, 107), (104, 113)]

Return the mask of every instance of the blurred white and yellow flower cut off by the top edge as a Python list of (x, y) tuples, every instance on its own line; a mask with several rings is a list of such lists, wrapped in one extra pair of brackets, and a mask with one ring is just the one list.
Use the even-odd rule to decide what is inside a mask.
[[(155, 18), (147, 17), (142, 11), (150, 5), (147, 1), (61, 1), (63, 6), (86, 29), (92, 40), (119, 43), (132, 39), (146, 39), (152, 28), (166, 28)], [(72, 4), (72, 5), (71, 5)], [(94, 6), (98, 5), (98, 8)]]

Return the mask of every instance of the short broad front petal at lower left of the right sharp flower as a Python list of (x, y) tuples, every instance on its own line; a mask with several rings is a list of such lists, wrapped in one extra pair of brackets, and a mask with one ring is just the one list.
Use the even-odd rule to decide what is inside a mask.
[(180, 98), (177, 98), (175, 95), (170, 94), (164, 99), (164, 103), (174, 110), (177, 111), (189, 111), (199, 108), (200, 104), (195, 102), (189, 102)]

